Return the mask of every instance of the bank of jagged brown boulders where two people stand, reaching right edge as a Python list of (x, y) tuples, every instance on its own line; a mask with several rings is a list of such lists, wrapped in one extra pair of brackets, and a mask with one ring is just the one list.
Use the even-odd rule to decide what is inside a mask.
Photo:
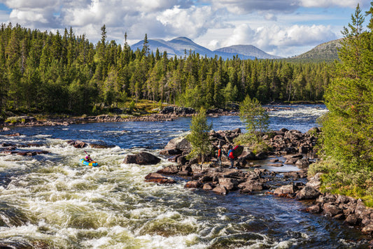
[[(197, 160), (188, 160), (190, 143), (183, 138), (174, 138), (160, 154), (175, 162), (146, 176), (147, 181), (155, 183), (176, 183), (171, 175), (185, 178), (186, 188), (199, 188), (213, 191), (216, 194), (229, 194), (239, 191), (241, 194), (273, 194), (274, 197), (293, 198), (306, 201), (309, 206), (305, 212), (318, 213), (325, 217), (342, 220), (345, 225), (361, 229), (365, 234), (373, 234), (373, 209), (367, 208), (360, 199), (353, 199), (335, 194), (323, 194), (320, 191), (321, 173), (307, 178), (308, 166), (316, 157), (316, 141), (320, 134), (318, 128), (302, 134), (300, 131), (281, 129), (264, 136), (273, 148), (268, 153), (254, 154), (248, 148), (235, 162), (237, 169), (228, 169), (227, 157), (223, 157), (223, 165), (217, 164), (213, 155), (209, 163), (200, 164)], [(241, 131), (211, 131), (213, 146), (222, 145), (226, 150), (233, 145), (233, 139)], [(296, 171), (276, 172), (262, 169), (255, 164), (256, 160), (267, 159), (267, 166), (281, 167), (293, 164)]]

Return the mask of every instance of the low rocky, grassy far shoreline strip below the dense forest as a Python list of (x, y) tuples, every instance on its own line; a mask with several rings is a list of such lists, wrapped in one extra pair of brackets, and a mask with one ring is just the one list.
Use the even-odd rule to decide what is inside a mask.
[[(265, 106), (267, 111), (277, 111), (281, 108), (290, 108), (292, 105), (299, 104), (324, 104), (323, 101), (290, 101), (277, 102)], [(72, 125), (87, 122), (131, 122), (131, 121), (171, 121), (174, 118), (192, 117), (197, 111), (194, 108), (185, 108), (176, 105), (158, 104), (154, 101), (141, 101), (138, 107), (113, 107), (103, 108), (99, 115), (68, 115), (64, 113), (12, 113), (3, 112), (0, 115), (0, 127), (22, 127), (22, 126), (54, 126), (54, 125)], [(231, 104), (228, 108), (213, 108), (207, 110), (207, 115), (216, 117), (220, 115), (239, 115), (239, 104)], [(105, 110), (106, 109), (106, 110)]]

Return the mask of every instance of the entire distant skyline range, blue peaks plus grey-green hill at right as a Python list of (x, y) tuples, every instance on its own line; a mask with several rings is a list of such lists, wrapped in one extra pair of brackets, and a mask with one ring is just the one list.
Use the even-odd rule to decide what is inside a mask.
[[(312, 50), (304, 52), (302, 55), (297, 55), (295, 57), (287, 58), (291, 61), (313, 61), (313, 62), (330, 62), (338, 59), (338, 48), (341, 47), (342, 39), (328, 41), (327, 43), (322, 43), (317, 45)], [(238, 56), (240, 59), (281, 59), (281, 57), (276, 55), (269, 55), (267, 52), (256, 48), (253, 45), (232, 45), (226, 48), (219, 48), (218, 50), (209, 50), (208, 48), (202, 47), (197, 43), (186, 37), (174, 38), (170, 41), (164, 41), (162, 39), (148, 39), (148, 45), (150, 51), (154, 53), (158, 50), (162, 54), (164, 51), (167, 52), (169, 57), (183, 57), (188, 56), (190, 50), (196, 52), (202, 57), (205, 55), (207, 57), (222, 57), (223, 59), (232, 59), (233, 56)], [(143, 41), (139, 41), (134, 45), (131, 45), (132, 50), (143, 48)]]

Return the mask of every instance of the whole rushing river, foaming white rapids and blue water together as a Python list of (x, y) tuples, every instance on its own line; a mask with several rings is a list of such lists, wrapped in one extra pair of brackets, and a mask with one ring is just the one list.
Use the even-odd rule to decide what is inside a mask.
[[(326, 112), (322, 105), (276, 106), (270, 128), (306, 132)], [(213, 129), (244, 125), (237, 116), (209, 118)], [(16, 248), (367, 248), (353, 227), (305, 213), (304, 202), (265, 192), (226, 196), (146, 183), (157, 165), (123, 164), (125, 155), (157, 155), (171, 138), (188, 134), (190, 118), (15, 127), (2, 143), (32, 144), (45, 155), (0, 154), (0, 245)], [(19, 132), (21, 136), (6, 134)], [(77, 149), (69, 140), (115, 145)], [(82, 166), (85, 152), (100, 167)], [(159, 155), (158, 155), (159, 156)], [(287, 170), (297, 170), (288, 166)]]

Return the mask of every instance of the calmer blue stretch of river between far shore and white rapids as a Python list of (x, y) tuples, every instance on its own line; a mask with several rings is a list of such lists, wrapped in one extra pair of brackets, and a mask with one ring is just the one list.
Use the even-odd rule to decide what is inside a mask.
[[(271, 106), (278, 111), (269, 112), (269, 129), (297, 129), (306, 132), (318, 126), (317, 119), (326, 112), (324, 105)], [(170, 138), (181, 136), (190, 130), (191, 118), (176, 118), (162, 122), (106, 122), (55, 127), (17, 127), (8, 133), (20, 132), (26, 136), (48, 135), (50, 138), (80, 140), (87, 142), (103, 141), (120, 148), (161, 149)], [(232, 130), (245, 126), (238, 115), (208, 117), (213, 129)]]

